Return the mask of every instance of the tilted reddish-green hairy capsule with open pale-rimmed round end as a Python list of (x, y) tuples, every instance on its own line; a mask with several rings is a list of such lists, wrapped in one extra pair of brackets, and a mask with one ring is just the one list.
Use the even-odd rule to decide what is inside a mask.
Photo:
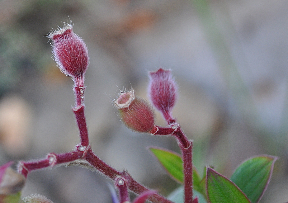
[(134, 90), (121, 92), (114, 101), (122, 122), (139, 133), (151, 132), (155, 124), (155, 112), (148, 101), (135, 97)]

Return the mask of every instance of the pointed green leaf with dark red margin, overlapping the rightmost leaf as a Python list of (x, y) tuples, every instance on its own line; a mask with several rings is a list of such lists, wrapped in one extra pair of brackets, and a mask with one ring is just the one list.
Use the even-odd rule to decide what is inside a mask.
[(251, 203), (228, 178), (207, 168), (207, 195), (211, 203)]

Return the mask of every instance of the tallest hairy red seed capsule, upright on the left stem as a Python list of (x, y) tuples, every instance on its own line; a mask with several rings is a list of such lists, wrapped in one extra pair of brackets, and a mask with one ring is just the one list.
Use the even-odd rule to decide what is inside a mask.
[(71, 76), (77, 87), (83, 87), (84, 74), (89, 65), (89, 53), (83, 39), (67, 23), (63, 28), (49, 33), (48, 37), (52, 39), (52, 53), (61, 71)]

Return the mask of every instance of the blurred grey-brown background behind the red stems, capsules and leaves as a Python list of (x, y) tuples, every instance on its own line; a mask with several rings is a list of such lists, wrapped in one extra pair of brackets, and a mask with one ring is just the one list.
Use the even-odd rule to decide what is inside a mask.
[[(111, 105), (123, 87), (147, 98), (147, 72), (172, 69), (173, 115), (194, 139), (198, 171), (209, 164), (230, 177), (248, 157), (278, 156), (261, 202), (288, 201), (286, 0), (0, 0), (1, 164), (78, 143), (73, 82), (43, 37), (69, 19), (90, 51), (86, 116), (100, 158), (164, 195), (179, 186), (146, 150), (179, 152), (176, 141), (131, 132)], [(107, 182), (84, 168), (46, 169), (29, 175), (23, 195), (110, 203)]]

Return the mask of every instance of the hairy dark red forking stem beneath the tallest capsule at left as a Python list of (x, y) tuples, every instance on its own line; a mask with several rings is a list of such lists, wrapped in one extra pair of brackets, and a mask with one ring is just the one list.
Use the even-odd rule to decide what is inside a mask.
[[(84, 115), (84, 87), (74, 87), (75, 93), (75, 103), (76, 106), (73, 108), (73, 112), (76, 117), (77, 125), (80, 131), (80, 140), (81, 144), (76, 146), (76, 150), (68, 153), (61, 153), (55, 154), (50, 153), (47, 155), (47, 158), (42, 160), (36, 160), (31, 162), (20, 162), (18, 166), (18, 170), (21, 174), (27, 177), (28, 173), (33, 170), (53, 167), (57, 164), (64, 164), (73, 162), (77, 159), (86, 160), (88, 163), (92, 165), (97, 171), (101, 172), (105, 176), (109, 177), (112, 180), (115, 180), (117, 176), (124, 176), (128, 181), (128, 187), (131, 191), (135, 194), (141, 194), (143, 192), (151, 191), (149, 188), (141, 185), (137, 181), (135, 181), (128, 172), (123, 171), (119, 172), (116, 169), (112, 168), (100, 158), (98, 158), (92, 151), (91, 147), (89, 146), (89, 139), (88, 139), (88, 130), (86, 119)], [(174, 130), (168, 130), (169, 132), (173, 132)], [(170, 134), (171, 134), (170, 133)], [(172, 201), (166, 199), (165, 197), (159, 194), (151, 195), (148, 200), (154, 203), (173, 203)]]

